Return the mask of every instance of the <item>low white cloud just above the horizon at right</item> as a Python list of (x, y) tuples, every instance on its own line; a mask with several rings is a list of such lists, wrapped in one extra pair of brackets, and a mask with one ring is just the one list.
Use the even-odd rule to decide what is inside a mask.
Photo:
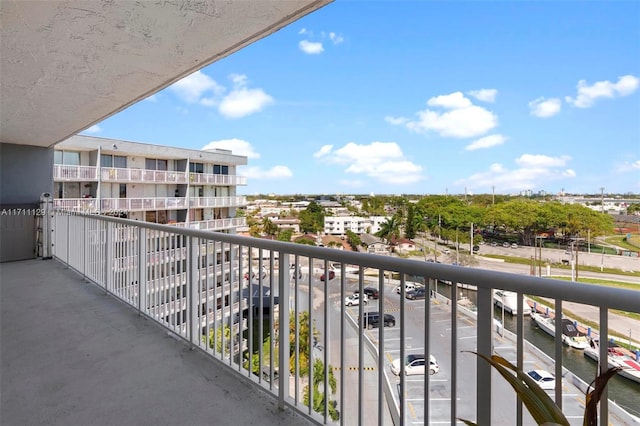
[(514, 160), (514, 169), (492, 164), (487, 171), (475, 173), (455, 184), (481, 191), (492, 186), (503, 192), (541, 188), (555, 181), (575, 178), (576, 172), (566, 167), (570, 160), (569, 156), (524, 154)]

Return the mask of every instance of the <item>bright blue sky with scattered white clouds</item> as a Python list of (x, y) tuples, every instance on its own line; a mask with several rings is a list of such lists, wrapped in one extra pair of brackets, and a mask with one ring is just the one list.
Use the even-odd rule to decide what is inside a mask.
[(638, 194), (640, 2), (337, 0), (84, 133), (241, 194)]

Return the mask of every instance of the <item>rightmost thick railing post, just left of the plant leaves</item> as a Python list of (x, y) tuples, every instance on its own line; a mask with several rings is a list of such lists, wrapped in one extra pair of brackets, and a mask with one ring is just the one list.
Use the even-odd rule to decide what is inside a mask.
[[(456, 283), (453, 283), (455, 286)], [(455, 289), (455, 290), (454, 290)], [(457, 293), (457, 287), (451, 287)], [(478, 287), (478, 353), (491, 356), (493, 352), (493, 294), (492, 289)], [(455, 298), (452, 298), (455, 299)], [(502, 325), (504, 327), (504, 324)], [(457, 368), (457, 364), (456, 364)], [(476, 416), (480, 426), (491, 424), (491, 365), (477, 357), (476, 368)], [(482, 389), (482, 391), (480, 391)]]

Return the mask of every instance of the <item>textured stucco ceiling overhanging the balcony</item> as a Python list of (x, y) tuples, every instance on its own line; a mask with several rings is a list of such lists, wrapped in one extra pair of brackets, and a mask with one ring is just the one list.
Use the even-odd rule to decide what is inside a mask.
[(2, 0), (0, 142), (54, 145), (331, 1)]

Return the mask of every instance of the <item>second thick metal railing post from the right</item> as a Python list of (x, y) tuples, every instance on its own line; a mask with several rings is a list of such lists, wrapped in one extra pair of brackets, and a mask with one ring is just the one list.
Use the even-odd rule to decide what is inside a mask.
[[(289, 396), (289, 298), (291, 296), (289, 291), (289, 260), (289, 254), (280, 253), (278, 261), (278, 312), (280, 313), (278, 319), (278, 408), (281, 410), (284, 410), (285, 398)], [(272, 305), (272, 314), (273, 309)], [(312, 325), (310, 324), (309, 327)], [(329, 368), (328, 365), (325, 365), (325, 368)], [(313, 377), (313, 369), (310, 370), (309, 377)], [(309, 389), (309, 392), (312, 392), (312, 386), (309, 386)], [(328, 395), (328, 391), (325, 390), (325, 392)], [(328, 398), (325, 398), (325, 404), (328, 403)]]

